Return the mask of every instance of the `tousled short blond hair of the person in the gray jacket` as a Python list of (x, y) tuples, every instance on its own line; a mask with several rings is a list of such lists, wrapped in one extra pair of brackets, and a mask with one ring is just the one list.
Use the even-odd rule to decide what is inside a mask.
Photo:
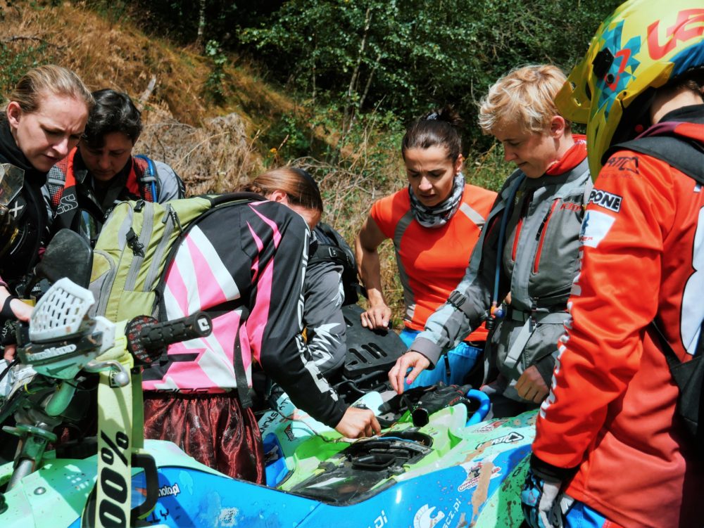
[[(562, 70), (552, 65), (511, 70), (479, 103), (479, 127), (484, 134), (494, 134), (497, 125), (510, 120), (529, 133), (547, 131), (553, 117), (559, 115), (554, 98), (566, 80)], [(566, 122), (570, 129), (570, 122)]]

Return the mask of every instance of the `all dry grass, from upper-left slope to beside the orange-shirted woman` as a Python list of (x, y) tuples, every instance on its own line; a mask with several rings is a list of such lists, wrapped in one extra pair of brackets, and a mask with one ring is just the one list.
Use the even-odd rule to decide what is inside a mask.
[[(129, 20), (112, 22), (81, 4), (37, 8), (37, 2), (0, 0), (5, 20), (0, 42), (20, 54), (30, 46), (30, 61), (57, 63), (75, 70), (91, 89), (112, 88), (143, 100), (144, 132), (135, 152), (168, 163), (182, 176), (189, 195), (230, 191), (265, 168), (287, 160), (263, 160), (254, 147), (258, 136), (282, 114), (310, 122), (305, 105), (263, 82), (256, 67), (231, 58), (225, 66), (224, 103), (206, 96), (211, 64), (198, 50), (177, 47), (142, 33)], [(39, 46), (40, 45), (40, 46)], [(39, 46), (39, 51), (37, 50)], [(151, 79), (153, 88), (149, 89)], [(316, 127), (316, 141), (334, 146), (334, 131)], [(326, 164), (310, 157), (291, 162), (320, 181), (329, 224), (349, 243), (372, 203), (406, 186), (398, 141), (389, 143), (374, 119), (341, 149), (341, 159)], [(384, 141), (386, 140), (386, 141)], [(270, 147), (270, 146), (267, 146)], [(267, 165), (268, 167), (265, 167)], [(400, 323), (403, 313), (394, 248), (379, 247), (386, 300)]]

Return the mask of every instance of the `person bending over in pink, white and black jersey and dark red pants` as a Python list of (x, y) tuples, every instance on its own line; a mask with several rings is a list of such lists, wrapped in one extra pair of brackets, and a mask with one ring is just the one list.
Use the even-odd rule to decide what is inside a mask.
[(346, 407), (302, 338), (310, 231), (263, 198), (203, 215), (165, 275), (165, 318), (206, 310), (208, 337), (171, 345), (144, 371), (144, 429), (220, 472), (264, 482), (262, 439), (249, 387), (258, 363), (298, 407), (346, 437), (379, 432), (372, 411)]

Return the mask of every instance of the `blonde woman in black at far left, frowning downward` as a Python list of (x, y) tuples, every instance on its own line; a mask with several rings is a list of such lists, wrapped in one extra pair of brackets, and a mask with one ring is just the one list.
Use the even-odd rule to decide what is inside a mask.
[[(76, 146), (93, 97), (72, 71), (44, 65), (28, 71), (0, 117), (0, 317), (27, 320), (15, 287), (39, 260), (48, 240), (42, 198), (46, 173)], [(6, 349), (6, 356), (10, 356)]]

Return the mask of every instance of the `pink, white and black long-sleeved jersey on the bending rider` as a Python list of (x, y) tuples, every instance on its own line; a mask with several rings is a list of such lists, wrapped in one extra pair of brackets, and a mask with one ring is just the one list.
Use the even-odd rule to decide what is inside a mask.
[(206, 311), (213, 332), (168, 348), (144, 371), (144, 390), (225, 392), (237, 387), (235, 354), (251, 386), (257, 361), (317, 420), (337, 425), (344, 404), (304, 354), (301, 288), (309, 232), (275, 202), (218, 207), (189, 226), (165, 272), (163, 319)]

